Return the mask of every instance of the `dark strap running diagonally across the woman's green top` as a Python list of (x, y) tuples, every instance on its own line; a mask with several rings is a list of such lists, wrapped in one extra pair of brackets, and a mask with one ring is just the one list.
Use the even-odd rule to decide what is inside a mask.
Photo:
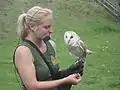
[(51, 73), (51, 75), (52, 75), (52, 78), (54, 78), (54, 72), (53, 72), (50, 64), (49, 64), (48, 61), (46, 60), (45, 56), (42, 54), (42, 52), (41, 52), (41, 51), (37, 48), (37, 46), (36, 46), (34, 43), (32, 43), (30, 40), (24, 40), (24, 42), (30, 44), (32, 47), (34, 47), (34, 48), (39, 52), (40, 56), (43, 58), (44, 62), (47, 64), (47, 66), (48, 66), (48, 68), (49, 68), (49, 70), (50, 70), (50, 73)]

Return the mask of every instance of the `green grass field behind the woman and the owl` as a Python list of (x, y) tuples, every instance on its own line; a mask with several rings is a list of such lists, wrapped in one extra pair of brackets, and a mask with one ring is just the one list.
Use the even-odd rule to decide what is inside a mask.
[[(20, 90), (12, 64), (13, 49), (18, 42), (16, 21), (20, 12), (33, 5), (41, 3), (10, 0), (0, 4), (0, 90)], [(120, 25), (92, 0), (55, 0), (53, 11), (53, 40), (61, 67), (68, 67), (75, 59), (69, 56), (63, 41), (67, 30), (77, 32), (87, 47), (96, 52), (86, 58), (82, 81), (72, 90), (119, 90)]]

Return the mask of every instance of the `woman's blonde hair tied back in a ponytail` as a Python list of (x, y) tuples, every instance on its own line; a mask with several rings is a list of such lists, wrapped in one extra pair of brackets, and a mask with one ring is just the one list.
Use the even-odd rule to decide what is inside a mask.
[(18, 17), (18, 34), (22, 40), (28, 35), (29, 24), (42, 23), (48, 15), (52, 15), (50, 9), (34, 6)]

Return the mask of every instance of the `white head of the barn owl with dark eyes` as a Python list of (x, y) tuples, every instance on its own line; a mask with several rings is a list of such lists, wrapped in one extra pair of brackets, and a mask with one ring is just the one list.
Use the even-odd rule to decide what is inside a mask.
[(75, 42), (77, 42), (80, 39), (80, 37), (74, 32), (74, 31), (66, 31), (64, 33), (64, 41), (66, 45), (73, 45)]

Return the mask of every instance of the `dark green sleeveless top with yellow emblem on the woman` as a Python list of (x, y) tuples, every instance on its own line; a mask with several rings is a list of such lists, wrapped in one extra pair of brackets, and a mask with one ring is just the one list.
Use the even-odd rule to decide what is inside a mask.
[[(47, 41), (45, 43), (47, 46), (47, 51), (43, 55), (46, 58), (47, 62), (49, 63), (54, 74), (57, 75), (57, 72), (59, 70), (59, 65), (58, 65), (58, 61), (56, 59), (55, 50), (53, 49), (53, 47), (49, 41)], [(38, 81), (52, 80), (52, 75), (50, 73), (50, 69), (49, 69), (48, 65), (45, 63), (45, 61), (43, 60), (43, 58), (41, 57), (41, 55), (38, 51), (38, 48), (32, 42), (31, 42), (31, 44), (27, 43), (27, 42), (23, 42), (20, 45), (24, 45), (24, 46), (28, 47), (34, 57), (34, 66), (35, 66), (35, 70), (36, 70), (37, 80)], [(22, 83), (22, 86), (23, 86), (23, 90), (27, 90), (23, 83)], [(52, 88), (52, 89), (47, 89), (47, 90), (57, 90), (57, 88)]]

